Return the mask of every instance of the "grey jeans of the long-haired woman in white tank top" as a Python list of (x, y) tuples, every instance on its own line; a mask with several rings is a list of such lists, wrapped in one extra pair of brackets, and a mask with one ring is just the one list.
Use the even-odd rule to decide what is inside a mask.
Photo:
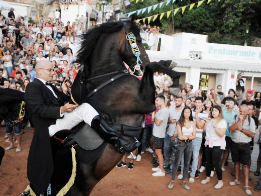
[(175, 180), (177, 175), (178, 167), (181, 161), (181, 157), (184, 154), (184, 172), (183, 172), (183, 180), (186, 180), (189, 171), (189, 162), (192, 156), (192, 143), (191, 142), (178, 142), (178, 150), (176, 151), (176, 159), (174, 166), (172, 168), (171, 179)]

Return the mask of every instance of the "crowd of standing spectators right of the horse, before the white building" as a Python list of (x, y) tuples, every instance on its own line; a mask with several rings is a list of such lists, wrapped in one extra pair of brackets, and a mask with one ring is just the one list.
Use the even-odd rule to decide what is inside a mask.
[[(180, 96), (173, 97), (168, 91), (171, 78), (156, 72), (156, 111), (147, 114), (141, 135), (142, 145), (133, 155), (123, 156), (116, 167), (134, 168), (134, 160), (141, 161), (144, 151), (155, 157), (152, 161), (153, 176), (165, 176), (171, 173), (167, 188), (172, 189), (175, 179), (182, 180), (181, 185), (190, 190), (189, 183), (194, 183), (200, 173), (206, 171), (206, 184), (217, 175), (215, 189), (224, 185), (222, 172), (228, 169), (227, 160), (231, 153), (234, 170), (231, 171), (231, 186), (240, 184), (239, 175), (244, 175), (243, 188), (251, 195), (249, 188), (249, 168), (251, 160), (257, 162), (254, 175), (260, 176), (261, 142), (258, 157), (251, 157), (255, 134), (261, 135), (260, 104), (261, 92), (244, 89), (244, 81), (239, 74), (236, 88), (222, 91), (222, 86), (204, 92), (193, 92), (193, 85), (185, 83), (180, 87)], [(259, 120), (258, 120), (259, 118)], [(135, 155), (136, 154), (136, 155)], [(243, 172), (240, 171), (242, 165)], [(179, 167), (181, 166), (181, 167)], [(178, 171), (179, 174), (178, 174)], [(234, 179), (233, 179), (234, 178)], [(261, 190), (261, 177), (255, 190)]]

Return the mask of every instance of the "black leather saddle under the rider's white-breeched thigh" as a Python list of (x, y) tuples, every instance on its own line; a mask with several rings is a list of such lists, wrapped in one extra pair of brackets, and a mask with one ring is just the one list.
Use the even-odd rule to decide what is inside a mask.
[(104, 142), (99, 134), (84, 122), (75, 126), (71, 131), (61, 130), (53, 137), (61, 141), (65, 140), (64, 145), (67, 145), (67, 141), (70, 143), (69, 141), (73, 140), (84, 150), (94, 150)]

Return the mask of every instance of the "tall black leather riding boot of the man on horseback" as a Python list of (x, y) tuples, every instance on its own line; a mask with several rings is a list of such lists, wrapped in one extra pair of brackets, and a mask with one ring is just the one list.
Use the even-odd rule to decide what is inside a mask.
[(129, 142), (122, 138), (117, 130), (111, 127), (107, 121), (99, 115), (92, 119), (91, 128), (93, 128), (106, 142), (116, 147), (120, 153), (130, 153), (141, 145), (138, 140)]

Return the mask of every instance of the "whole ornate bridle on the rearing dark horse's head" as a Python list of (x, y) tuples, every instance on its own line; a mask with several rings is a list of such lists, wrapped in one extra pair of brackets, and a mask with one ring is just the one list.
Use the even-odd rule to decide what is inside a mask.
[[(137, 61), (134, 62), (133, 64), (131, 65), (128, 65), (131, 69), (134, 69), (133, 72), (135, 72), (136, 70), (139, 70), (141, 72), (141, 74), (143, 75), (142, 71), (141, 71), (141, 64), (143, 64), (143, 61), (148, 58), (148, 54), (146, 53), (145, 56), (143, 56), (142, 58), (140, 57), (141, 56), (141, 52), (140, 52), (140, 49), (139, 49), (139, 46), (137, 45), (136, 43), (136, 37), (134, 35), (134, 33), (132, 32), (129, 32), (127, 30), (127, 23), (126, 22), (123, 22), (123, 27), (124, 27), (124, 30), (125, 30), (125, 35), (126, 35), (126, 50), (128, 51), (128, 44), (131, 45), (131, 48), (132, 48), (132, 52), (134, 54), (134, 56), (137, 57)], [(141, 63), (141, 64), (140, 64)]]

